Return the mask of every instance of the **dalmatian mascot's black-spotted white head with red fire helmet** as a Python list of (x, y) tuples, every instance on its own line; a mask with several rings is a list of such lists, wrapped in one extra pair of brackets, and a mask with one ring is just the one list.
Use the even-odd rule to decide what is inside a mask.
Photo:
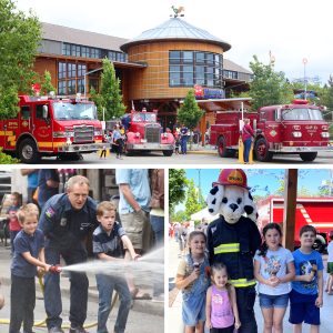
[(212, 215), (221, 214), (228, 223), (236, 223), (244, 213), (255, 222), (256, 209), (241, 169), (224, 169), (213, 183), (206, 203)]

